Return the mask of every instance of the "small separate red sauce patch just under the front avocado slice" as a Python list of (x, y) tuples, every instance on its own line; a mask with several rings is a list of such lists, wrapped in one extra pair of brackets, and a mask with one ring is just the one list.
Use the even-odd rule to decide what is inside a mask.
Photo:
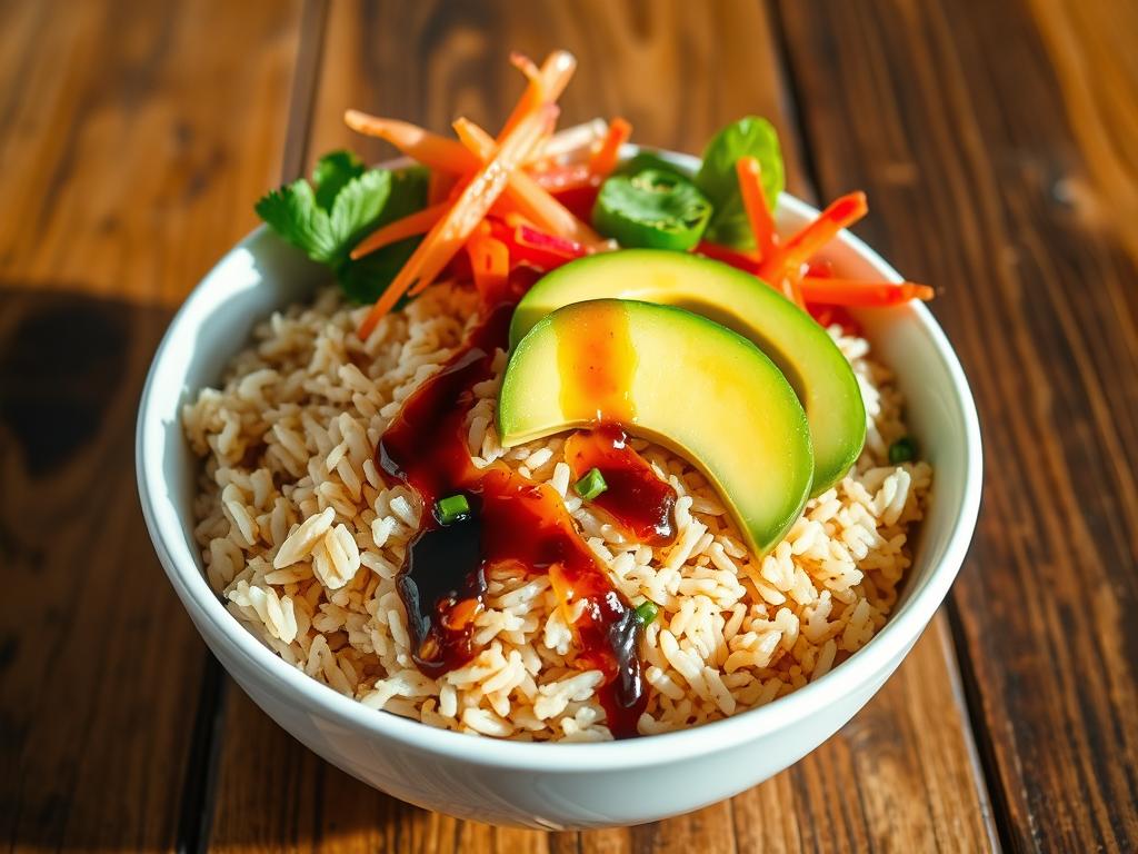
[(572, 479), (600, 469), (607, 488), (592, 500), (626, 536), (649, 545), (676, 539), (676, 491), (628, 444), (616, 424), (578, 430), (566, 442)]

